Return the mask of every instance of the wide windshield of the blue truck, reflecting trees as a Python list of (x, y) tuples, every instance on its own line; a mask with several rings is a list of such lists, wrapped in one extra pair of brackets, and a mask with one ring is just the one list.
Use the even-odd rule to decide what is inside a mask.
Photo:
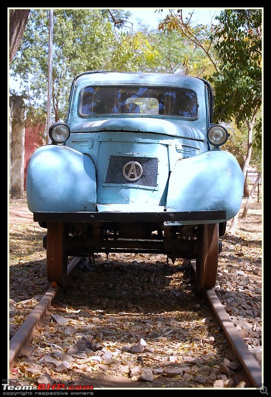
[(147, 86), (88, 86), (82, 90), (79, 113), (144, 114), (196, 118), (194, 91), (185, 88)]

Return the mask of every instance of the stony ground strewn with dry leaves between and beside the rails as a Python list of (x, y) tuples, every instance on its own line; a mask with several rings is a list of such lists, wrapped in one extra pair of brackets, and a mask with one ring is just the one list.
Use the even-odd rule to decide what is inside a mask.
[[(18, 201), (18, 200), (17, 200)], [(12, 200), (11, 200), (12, 204)], [(25, 211), (25, 201), (12, 211)], [(261, 203), (221, 238), (215, 291), (261, 364)], [(17, 218), (16, 218), (17, 219)], [(48, 290), (46, 256), (38, 224), (10, 222), (10, 337)], [(37, 385), (95, 388), (243, 388), (240, 363), (196, 294), (183, 260), (165, 256), (96, 255), (51, 308), (28, 354), (11, 369)], [(47, 381), (46, 381), (47, 383)]]

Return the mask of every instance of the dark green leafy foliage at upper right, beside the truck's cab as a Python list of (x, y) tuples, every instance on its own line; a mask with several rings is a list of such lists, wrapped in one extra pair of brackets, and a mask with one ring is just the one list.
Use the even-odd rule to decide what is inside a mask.
[[(209, 80), (215, 91), (215, 118), (251, 120), (262, 104), (262, 10), (227, 9), (213, 35), (218, 71)], [(255, 126), (256, 128), (256, 126)], [(257, 124), (260, 132), (261, 123)]]

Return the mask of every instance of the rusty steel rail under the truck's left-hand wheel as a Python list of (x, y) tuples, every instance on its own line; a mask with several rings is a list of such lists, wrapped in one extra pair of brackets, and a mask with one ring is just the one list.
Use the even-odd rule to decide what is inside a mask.
[[(76, 266), (82, 260), (81, 257), (74, 258), (67, 268), (67, 278), (74, 273)], [(44, 294), (39, 303), (31, 311), (26, 320), (22, 323), (18, 331), (12, 336), (9, 341), (9, 366), (13, 363), (15, 358), (23, 352), (24, 346), (33, 335), (35, 328), (38, 326), (41, 318), (49, 312), (49, 307), (55, 295), (59, 292), (60, 287), (50, 287)]]

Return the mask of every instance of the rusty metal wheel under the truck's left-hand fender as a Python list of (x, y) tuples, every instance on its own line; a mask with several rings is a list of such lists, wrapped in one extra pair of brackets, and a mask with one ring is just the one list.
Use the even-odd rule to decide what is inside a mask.
[(68, 228), (64, 222), (48, 222), (47, 225), (47, 279), (64, 286), (67, 276)]

